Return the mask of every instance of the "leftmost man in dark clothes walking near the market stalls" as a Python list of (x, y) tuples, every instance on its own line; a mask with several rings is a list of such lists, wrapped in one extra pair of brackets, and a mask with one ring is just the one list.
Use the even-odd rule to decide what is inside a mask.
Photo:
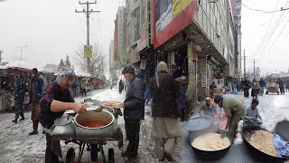
[(15, 119), (12, 121), (14, 123), (17, 123), (19, 116), (21, 116), (20, 120), (25, 119), (24, 113), (23, 113), (23, 103), (24, 103), (24, 95), (27, 89), (26, 89), (23, 75), (16, 74), (14, 76), (14, 79), (15, 79), (15, 84), (14, 84)]

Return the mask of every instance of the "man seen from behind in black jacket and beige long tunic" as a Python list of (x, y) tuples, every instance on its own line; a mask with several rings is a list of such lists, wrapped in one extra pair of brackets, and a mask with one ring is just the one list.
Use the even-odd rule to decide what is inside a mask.
[(152, 80), (152, 138), (154, 153), (159, 161), (174, 161), (172, 152), (181, 137), (181, 127), (176, 99), (180, 95), (179, 84), (169, 74), (165, 62), (157, 65), (157, 74)]

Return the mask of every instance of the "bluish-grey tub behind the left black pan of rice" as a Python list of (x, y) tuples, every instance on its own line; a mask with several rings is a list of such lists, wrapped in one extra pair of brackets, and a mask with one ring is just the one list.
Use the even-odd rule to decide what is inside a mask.
[(182, 129), (188, 130), (190, 139), (194, 139), (203, 133), (213, 130), (213, 121), (213, 118), (206, 115), (192, 117), (182, 125)]

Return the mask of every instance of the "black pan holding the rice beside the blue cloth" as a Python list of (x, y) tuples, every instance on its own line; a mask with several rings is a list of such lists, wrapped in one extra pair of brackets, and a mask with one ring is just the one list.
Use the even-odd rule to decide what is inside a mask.
[[(247, 149), (249, 151), (249, 153), (252, 155), (253, 158), (256, 158), (258, 161), (264, 161), (264, 162), (284, 162), (284, 160), (286, 160), (286, 158), (277, 158), (271, 155), (267, 155), (266, 153), (264, 153), (263, 151), (256, 149), (255, 147), (253, 147), (246, 138), (246, 135), (250, 132), (253, 132), (255, 130), (266, 130), (263, 129), (261, 127), (257, 127), (257, 126), (245, 126), (242, 128), (242, 137), (243, 140), (245, 142), (245, 145), (247, 146)], [(266, 130), (267, 131), (267, 130)]]

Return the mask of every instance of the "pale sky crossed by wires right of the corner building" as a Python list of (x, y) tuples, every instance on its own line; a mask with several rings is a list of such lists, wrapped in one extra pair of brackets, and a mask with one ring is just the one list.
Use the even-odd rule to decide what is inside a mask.
[[(280, 10), (281, 7), (288, 8), (289, 2), (286, 0), (279, 0), (279, 3), (275, 9), (277, 4), (277, 0), (243, 0), (243, 4), (252, 8), (262, 9), (266, 11), (274, 11)], [(288, 2), (287, 5), (285, 5)], [(274, 15), (271, 25), (276, 26), (275, 20), (279, 18), (280, 14), (283, 14), (283, 20), (278, 27), (275, 29), (275, 33), (272, 35), (270, 42), (264, 43), (261, 51), (258, 51), (259, 54), (255, 54), (253, 57), (253, 53), (256, 52), (256, 49), (260, 45), (264, 35), (266, 34), (266, 30), (270, 23), (271, 16)], [(289, 63), (288, 63), (288, 51), (289, 51), (289, 10), (283, 12), (277, 12), (275, 14), (266, 14), (256, 11), (251, 11), (246, 7), (242, 6), (242, 48), (246, 49), (247, 57), (247, 69), (253, 70), (253, 59), (257, 59), (259, 62), (256, 63), (256, 66), (261, 68), (262, 72), (277, 72), (284, 71), (288, 72)], [(287, 24), (285, 27), (284, 25)], [(283, 33), (281, 33), (284, 28)], [(270, 28), (269, 28), (270, 29)], [(268, 30), (270, 31), (270, 30)], [(280, 34), (281, 33), (281, 34)], [(280, 34), (280, 36), (275, 38)], [(268, 35), (268, 34), (267, 34)], [(271, 50), (268, 51), (270, 46), (274, 43)], [(264, 49), (264, 52), (262, 50)], [(267, 53), (266, 53), (267, 52)], [(261, 54), (260, 54), (261, 53)], [(243, 54), (243, 52), (242, 52)]]

